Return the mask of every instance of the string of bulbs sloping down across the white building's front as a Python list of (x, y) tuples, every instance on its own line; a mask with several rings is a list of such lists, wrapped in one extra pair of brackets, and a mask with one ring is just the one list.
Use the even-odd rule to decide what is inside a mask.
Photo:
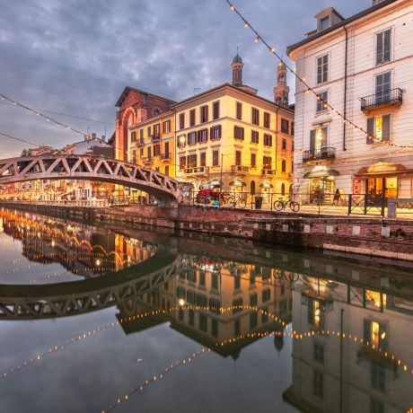
[[(240, 12), (238, 11), (238, 9), (237, 9), (232, 3), (229, 2), (229, 0), (224, 0), (224, 1), (225, 1), (227, 4), (230, 4), (231, 10), (233, 10), (235, 13), (237, 13), (238, 16), (242, 19), (243, 22), (247, 22), (246, 19), (244, 18), (244, 16), (242, 15), (242, 13), (240, 13)], [(275, 48), (272, 48), (271, 46), (269, 46), (268, 42), (267, 42), (266, 40), (264, 40), (264, 39), (259, 35), (259, 32), (256, 31), (256, 30), (252, 27), (252, 25), (251, 25), (250, 23), (249, 23), (249, 28), (250, 28), (251, 31), (253, 31), (253, 32), (257, 35), (258, 39), (262, 41), (262, 43), (269, 49), (269, 51), (270, 51), (271, 53), (273, 53), (273, 54), (279, 59), (279, 61), (282, 62), (282, 63), (286, 66), (286, 68), (294, 75), (294, 77), (295, 77), (296, 79), (298, 79), (299, 82), (303, 83), (303, 86), (305, 87), (305, 91), (304, 91), (305, 93), (312, 92), (315, 96), (318, 96), (318, 95), (319, 95), (319, 93), (316, 92), (314, 89), (312, 89), (312, 87), (307, 83), (305, 77), (304, 77), (304, 76), (303, 76), (303, 77), (300, 77), (299, 75), (297, 75), (296, 72), (295, 72), (295, 70), (294, 70), (292, 67), (290, 67), (290, 66), (286, 63), (286, 61), (277, 54), (277, 51), (276, 51)], [(324, 99), (322, 99), (322, 97), (320, 98), (320, 101), (321, 101), (323, 104), (326, 105), (326, 109), (328, 108), (328, 109), (330, 109), (330, 110), (335, 111), (335, 112), (338, 114), (338, 116), (339, 116), (341, 119), (343, 119), (343, 122), (345, 122), (345, 123), (348, 122), (348, 124), (351, 125), (352, 127), (354, 127), (356, 130), (360, 130), (361, 132), (363, 132), (363, 133), (365, 134), (366, 138), (371, 139), (371, 138), (369, 137), (369, 136), (371, 136), (371, 134), (369, 134), (369, 133), (367, 132), (367, 130), (365, 130), (364, 127), (359, 127), (359, 126), (357, 126), (352, 120), (347, 119), (347, 116), (343, 115), (341, 112), (339, 112), (338, 110), (336, 110), (328, 101), (325, 101)], [(383, 144), (383, 145), (388, 145), (388, 146), (390, 146), (390, 147), (397, 147), (397, 148), (400, 148), (400, 149), (413, 149), (413, 145), (396, 145), (396, 144), (393, 144), (393, 143), (388, 142), (388, 141), (383, 141), (382, 138), (377, 137), (377, 136), (373, 136), (373, 141), (376, 141), (377, 143), (381, 143), (381, 144)]]

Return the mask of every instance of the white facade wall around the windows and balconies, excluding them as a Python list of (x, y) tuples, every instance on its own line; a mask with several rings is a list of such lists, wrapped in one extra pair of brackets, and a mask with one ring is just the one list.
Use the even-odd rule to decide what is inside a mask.
[[(391, 143), (413, 145), (413, 1), (405, 0), (387, 5), (346, 26), (347, 45), (347, 119), (357, 126), (367, 128), (367, 119), (391, 114)], [(380, 66), (375, 64), (376, 33), (391, 29), (391, 61)], [(329, 55), (329, 79), (317, 86), (317, 57)], [(329, 103), (344, 113), (346, 31), (338, 28), (318, 39), (295, 48), (290, 56), (296, 62), (296, 73), (316, 92), (327, 91)], [(403, 90), (400, 108), (382, 107), (366, 114), (361, 110), (361, 98), (375, 93), (375, 76), (391, 72), (391, 89)], [(303, 83), (297, 80), (295, 94), (295, 154), (294, 184), (302, 192), (309, 190), (309, 180), (303, 179), (306, 172), (331, 169), (339, 172), (333, 190), (354, 192), (355, 175), (364, 167), (375, 163), (396, 163), (413, 172), (413, 150), (390, 147), (384, 143), (366, 144), (366, 136), (350, 125), (346, 126), (344, 145), (343, 119), (332, 110), (316, 112), (316, 97), (305, 92)], [(321, 160), (303, 163), (303, 151), (310, 149), (310, 133), (317, 127), (328, 127), (327, 145), (336, 149), (333, 161)], [(344, 148), (345, 146), (345, 148)], [(345, 150), (346, 149), (346, 150)], [(413, 197), (413, 173), (399, 176), (400, 198)], [(361, 193), (365, 184), (361, 178)]]

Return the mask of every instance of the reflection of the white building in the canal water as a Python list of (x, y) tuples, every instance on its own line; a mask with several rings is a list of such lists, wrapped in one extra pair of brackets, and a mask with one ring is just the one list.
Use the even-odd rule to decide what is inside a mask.
[[(388, 286), (389, 280), (381, 282)], [(294, 339), (293, 382), (284, 398), (308, 412), (407, 411), (413, 391), (412, 316), (411, 296), (300, 277), (293, 292), (293, 329), (316, 334)]]

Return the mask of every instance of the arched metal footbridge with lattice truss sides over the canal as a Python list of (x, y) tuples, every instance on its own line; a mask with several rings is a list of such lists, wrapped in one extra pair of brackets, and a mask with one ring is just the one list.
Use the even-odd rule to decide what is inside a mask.
[(180, 198), (177, 180), (116, 159), (50, 154), (0, 160), (0, 185), (27, 180), (94, 180), (140, 189), (165, 203)]

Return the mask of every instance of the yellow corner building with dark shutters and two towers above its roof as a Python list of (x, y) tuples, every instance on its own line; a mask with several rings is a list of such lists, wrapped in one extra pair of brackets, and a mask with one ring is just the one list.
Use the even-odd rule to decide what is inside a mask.
[[(242, 84), (238, 54), (232, 67), (233, 84), (174, 105), (176, 176), (196, 190), (219, 188), (222, 180), (226, 192), (287, 194), (293, 183), (294, 110)], [(284, 71), (278, 67), (278, 74)], [(279, 80), (287, 96), (285, 76)]]

